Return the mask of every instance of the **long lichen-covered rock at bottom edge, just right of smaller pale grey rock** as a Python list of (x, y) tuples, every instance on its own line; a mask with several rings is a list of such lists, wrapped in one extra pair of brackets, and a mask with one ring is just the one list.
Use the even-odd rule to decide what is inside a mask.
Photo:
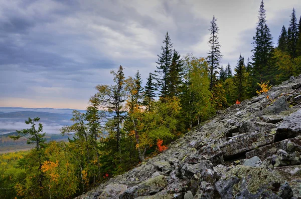
[(126, 189), (123, 194), (120, 195), (120, 199), (131, 199), (138, 196), (152, 195), (159, 192), (161, 189), (167, 186), (167, 180), (164, 175), (150, 178), (140, 184), (132, 186)]

